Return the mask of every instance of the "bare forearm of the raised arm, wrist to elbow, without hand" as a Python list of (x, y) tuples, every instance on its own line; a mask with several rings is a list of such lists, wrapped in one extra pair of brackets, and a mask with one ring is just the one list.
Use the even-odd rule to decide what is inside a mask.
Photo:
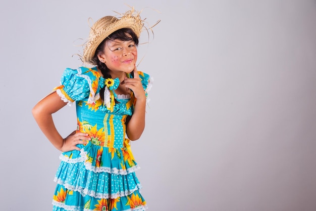
[(140, 138), (145, 128), (146, 99), (137, 99), (134, 113), (126, 126), (126, 134), (132, 141)]

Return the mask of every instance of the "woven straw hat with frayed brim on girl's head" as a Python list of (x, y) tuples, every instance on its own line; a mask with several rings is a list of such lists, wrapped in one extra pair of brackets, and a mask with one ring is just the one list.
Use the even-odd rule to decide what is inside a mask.
[(139, 13), (127, 11), (120, 19), (114, 16), (105, 16), (97, 20), (91, 27), (87, 44), (83, 50), (83, 62), (96, 65), (93, 61), (96, 48), (107, 36), (122, 28), (132, 29), (139, 38), (144, 23)]

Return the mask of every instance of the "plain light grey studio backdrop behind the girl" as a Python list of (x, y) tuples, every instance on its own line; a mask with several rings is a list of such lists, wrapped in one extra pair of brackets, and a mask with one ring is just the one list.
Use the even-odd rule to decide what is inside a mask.
[[(316, 2), (307, 0), (2, 1), (0, 209), (51, 210), (60, 152), (31, 109), (81, 65), (73, 55), (88, 18), (125, 3), (161, 20), (139, 47), (154, 86), (132, 143), (149, 210), (316, 210)], [(63, 136), (76, 128), (74, 106), (54, 118)]]

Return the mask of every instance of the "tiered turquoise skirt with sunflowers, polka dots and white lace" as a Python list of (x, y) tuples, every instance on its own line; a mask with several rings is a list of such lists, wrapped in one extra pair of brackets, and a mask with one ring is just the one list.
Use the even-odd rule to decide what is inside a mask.
[(139, 168), (127, 142), (123, 148), (78, 145), (61, 154), (54, 211), (133, 210), (147, 208), (135, 171)]

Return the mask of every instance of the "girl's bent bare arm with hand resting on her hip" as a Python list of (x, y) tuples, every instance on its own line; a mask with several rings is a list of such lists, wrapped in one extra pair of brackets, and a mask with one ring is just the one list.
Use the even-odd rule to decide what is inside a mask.
[[(52, 119), (52, 114), (63, 108), (67, 103), (61, 100), (60, 96), (56, 92), (43, 98), (39, 101), (32, 109), (33, 116), (43, 134), (54, 145), (58, 150), (63, 152), (70, 150), (80, 150), (76, 145), (83, 144), (83, 140), (87, 140), (82, 136), (87, 136), (87, 134), (76, 134), (69, 135), (66, 139), (59, 134), (56, 129), (55, 123)], [(76, 137), (75, 137), (76, 136)]]

